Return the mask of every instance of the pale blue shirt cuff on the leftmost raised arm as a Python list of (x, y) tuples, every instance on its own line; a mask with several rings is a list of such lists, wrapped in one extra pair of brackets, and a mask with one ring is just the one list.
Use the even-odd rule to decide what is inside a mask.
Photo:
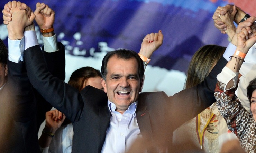
[(25, 47), (25, 36), (21, 40), (11, 40), (8, 37), (8, 59), (11, 62), (19, 63), (23, 61), (23, 52)]

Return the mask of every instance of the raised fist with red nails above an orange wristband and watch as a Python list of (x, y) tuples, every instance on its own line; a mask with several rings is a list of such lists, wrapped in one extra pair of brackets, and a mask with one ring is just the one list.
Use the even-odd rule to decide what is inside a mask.
[(150, 58), (152, 53), (163, 44), (163, 34), (159, 30), (158, 33), (147, 34), (141, 43), (139, 53), (147, 58)]

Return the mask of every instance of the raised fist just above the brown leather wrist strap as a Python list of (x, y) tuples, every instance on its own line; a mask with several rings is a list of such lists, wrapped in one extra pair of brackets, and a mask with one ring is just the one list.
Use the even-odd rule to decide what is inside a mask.
[(36, 15), (36, 22), (40, 29), (53, 28), (55, 12), (49, 8), (48, 5), (44, 3), (37, 3), (34, 13)]

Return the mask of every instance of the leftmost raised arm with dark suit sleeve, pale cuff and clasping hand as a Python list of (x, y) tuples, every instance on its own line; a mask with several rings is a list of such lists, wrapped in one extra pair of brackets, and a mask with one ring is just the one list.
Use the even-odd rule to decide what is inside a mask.
[[(26, 26), (31, 25), (35, 15), (31, 12), (30, 17), (25, 10), (20, 8), (27, 7), (20, 2), (10, 2), (12, 8), (12, 21), (7, 25), (8, 43), (12, 40), (17, 41), (18, 50), (13, 50), (13, 43), (9, 43), (9, 59), (13, 52), (20, 53), (20, 49), (24, 47), (23, 30)], [(18, 40), (22, 39), (22, 40)], [(19, 46), (22, 46), (19, 48)], [(17, 49), (17, 48), (16, 48)], [(19, 58), (20, 59), (20, 58)], [(18, 63), (19, 62), (19, 63)], [(36, 131), (36, 102), (33, 95), (32, 86), (28, 80), (25, 63), (20, 61), (8, 61), (8, 84), (15, 85), (15, 90), (12, 91), (12, 97), (15, 99), (11, 103), (11, 117), (13, 124), (13, 131), (8, 138), (9, 143), (13, 146), (7, 146), (7, 152), (38, 152), (38, 138)], [(8, 148), (9, 147), (9, 148)]]

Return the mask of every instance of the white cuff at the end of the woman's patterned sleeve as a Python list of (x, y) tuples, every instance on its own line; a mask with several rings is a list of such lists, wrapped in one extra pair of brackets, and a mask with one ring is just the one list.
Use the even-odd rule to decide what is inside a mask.
[[(217, 75), (217, 80), (226, 84), (224, 87), (224, 92), (226, 92), (226, 90), (230, 90), (230, 89), (233, 89), (236, 87), (238, 74), (239, 74), (239, 72), (233, 72), (231, 69), (229, 69), (227, 66), (225, 66), (222, 69), (221, 73)], [(234, 85), (230, 89), (226, 89), (227, 84), (231, 79), (233, 80)]]

